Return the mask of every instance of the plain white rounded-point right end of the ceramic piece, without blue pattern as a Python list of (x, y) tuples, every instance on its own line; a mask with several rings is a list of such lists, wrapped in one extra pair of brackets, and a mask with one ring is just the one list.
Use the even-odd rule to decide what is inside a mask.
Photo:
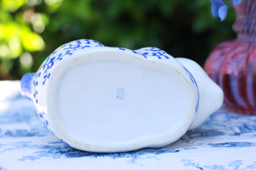
[(194, 122), (190, 127), (190, 129), (193, 129), (201, 125), (207, 117), (222, 106), (223, 91), (210, 79), (198, 63), (187, 58), (175, 59), (191, 72), (198, 85), (200, 99), (198, 112), (196, 112)]

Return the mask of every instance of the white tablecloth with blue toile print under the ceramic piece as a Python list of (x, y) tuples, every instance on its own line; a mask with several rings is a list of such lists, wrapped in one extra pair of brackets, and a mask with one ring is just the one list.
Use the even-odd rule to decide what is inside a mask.
[(0, 81), (0, 169), (256, 169), (256, 116), (218, 110), (166, 147), (90, 153), (50, 133), (19, 88)]

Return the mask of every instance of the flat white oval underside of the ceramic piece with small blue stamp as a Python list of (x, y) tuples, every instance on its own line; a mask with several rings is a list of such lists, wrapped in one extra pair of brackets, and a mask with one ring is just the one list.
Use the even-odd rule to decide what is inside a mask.
[(181, 137), (193, 122), (194, 91), (166, 63), (103, 49), (74, 56), (51, 76), (52, 131), (81, 150), (160, 147)]

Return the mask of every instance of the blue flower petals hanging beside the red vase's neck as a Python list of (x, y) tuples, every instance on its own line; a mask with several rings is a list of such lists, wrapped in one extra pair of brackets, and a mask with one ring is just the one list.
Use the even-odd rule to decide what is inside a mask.
[(220, 18), (220, 21), (225, 20), (228, 8), (231, 6), (231, 4), (233, 2), (235, 4), (239, 4), (239, 2), (242, 0), (229, 0), (228, 4), (230, 4), (230, 6), (226, 6), (225, 1), (226, 0), (210, 0), (210, 3), (212, 4), (210, 6), (212, 9), (212, 17), (218, 17)]

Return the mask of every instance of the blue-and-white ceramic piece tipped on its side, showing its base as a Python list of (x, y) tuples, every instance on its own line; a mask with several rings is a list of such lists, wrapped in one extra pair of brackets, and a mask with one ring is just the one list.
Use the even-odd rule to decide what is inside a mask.
[(220, 87), (194, 61), (89, 39), (57, 48), (21, 83), (52, 133), (90, 152), (170, 144), (223, 102)]

